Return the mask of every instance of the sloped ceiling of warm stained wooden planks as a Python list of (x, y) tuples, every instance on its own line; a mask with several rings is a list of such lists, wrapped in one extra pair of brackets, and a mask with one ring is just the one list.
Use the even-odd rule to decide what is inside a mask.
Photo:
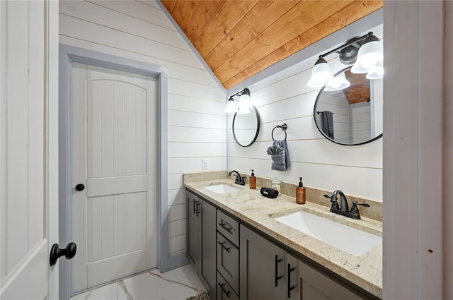
[(227, 90), (383, 0), (161, 0)]

